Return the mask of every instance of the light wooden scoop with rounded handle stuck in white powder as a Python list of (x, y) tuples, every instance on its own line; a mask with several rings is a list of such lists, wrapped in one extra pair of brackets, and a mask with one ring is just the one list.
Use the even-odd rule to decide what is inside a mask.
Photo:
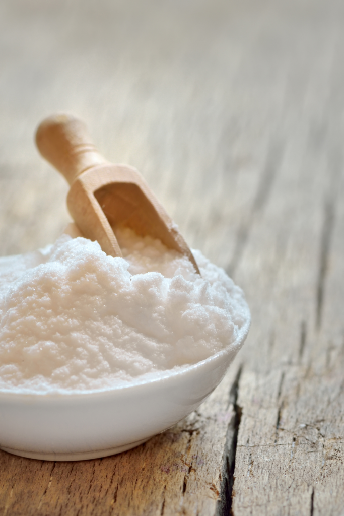
[(67, 206), (85, 237), (97, 240), (107, 254), (122, 256), (112, 228), (128, 227), (140, 236), (159, 238), (169, 249), (187, 256), (200, 273), (177, 225), (138, 170), (107, 162), (83, 122), (71, 115), (46, 118), (37, 129), (36, 143), (71, 185)]

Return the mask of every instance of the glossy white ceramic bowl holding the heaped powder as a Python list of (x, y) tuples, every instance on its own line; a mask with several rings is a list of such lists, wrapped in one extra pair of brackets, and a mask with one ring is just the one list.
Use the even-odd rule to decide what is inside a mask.
[(43, 460), (106, 457), (167, 430), (224, 377), (248, 333), (207, 360), (122, 388), (80, 394), (0, 392), (0, 448)]

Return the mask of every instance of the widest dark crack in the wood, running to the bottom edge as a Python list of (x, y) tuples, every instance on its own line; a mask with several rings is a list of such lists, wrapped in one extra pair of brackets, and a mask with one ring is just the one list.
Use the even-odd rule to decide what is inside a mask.
[(237, 405), (239, 394), (239, 381), (242, 374), (242, 365), (238, 369), (236, 378), (232, 384), (227, 410), (233, 406), (234, 414), (228, 424), (226, 444), (224, 449), (224, 457), (222, 472), (220, 473), (220, 498), (217, 504), (216, 516), (228, 516), (233, 514), (232, 497), (235, 472), (235, 456), (238, 445), (238, 433), (241, 421), (242, 409)]

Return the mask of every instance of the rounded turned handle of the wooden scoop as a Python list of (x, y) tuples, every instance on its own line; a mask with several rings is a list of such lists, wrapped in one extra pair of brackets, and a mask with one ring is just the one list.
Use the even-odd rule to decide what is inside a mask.
[(43, 120), (36, 131), (36, 144), (70, 185), (81, 172), (108, 163), (92, 143), (84, 122), (73, 115), (53, 115)]

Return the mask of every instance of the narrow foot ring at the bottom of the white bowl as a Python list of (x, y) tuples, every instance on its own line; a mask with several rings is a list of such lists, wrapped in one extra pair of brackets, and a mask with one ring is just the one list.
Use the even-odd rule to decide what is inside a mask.
[(115, 455), (122, 451), (135, 448), (140, 444), (147, 441), (149, 438), (142, 439), (142, 441), (136, 441), (135, 443), (123, 444), (122, 446), (114, 446), (113, 448), (106, 448), (103, 450), (95, 451), (77, 451), (72, 453), (46, 453), (42, 451), (26, 451), (18, 450), (14, 448), (5, 448), (0, 446), (0, 449), (7, 451), (13, 455), (19, 455), (20, 457), (26, 457), (28, 459), (38, 460), (54, 460), (54, 461), (69, 461), (69, 460), (88, 460), (88, 459), (99, 459), (100, 457), (108, 457), (109, 455)]

